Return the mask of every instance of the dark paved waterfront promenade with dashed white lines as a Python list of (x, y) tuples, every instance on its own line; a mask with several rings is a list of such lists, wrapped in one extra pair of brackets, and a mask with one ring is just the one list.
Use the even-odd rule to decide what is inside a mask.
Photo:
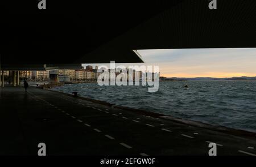
[[(255, 135), (229, 134), (64, 93), (1, 88), (0, 155), (256, 155)], [(254, 149), (253, 149), (254, 147)]]

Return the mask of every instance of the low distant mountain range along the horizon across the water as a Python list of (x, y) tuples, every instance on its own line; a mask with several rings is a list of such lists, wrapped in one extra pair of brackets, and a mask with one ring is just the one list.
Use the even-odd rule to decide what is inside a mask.
[(196, 78), (163, 78), (163, 80), (256, 80), (256, 76), (241, 76), (241, 77), (232, 77), (232, 78), (211, 78), (211, 77), (196, 77)]

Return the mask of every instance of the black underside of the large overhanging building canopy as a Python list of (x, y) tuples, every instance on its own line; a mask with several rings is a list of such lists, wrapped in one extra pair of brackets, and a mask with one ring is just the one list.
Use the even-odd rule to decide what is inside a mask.
[[(11, 1), (1, 18), (1, 64), (143, 62), (136, 49), (256, 46), (255, 1)], [(241, 55), (242, 56), (242, 55)]]

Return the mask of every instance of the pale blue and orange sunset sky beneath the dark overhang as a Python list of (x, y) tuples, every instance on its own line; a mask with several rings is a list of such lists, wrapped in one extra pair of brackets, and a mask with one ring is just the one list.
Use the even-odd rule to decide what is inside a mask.
[(154, 49), (138, 52), (144, 63), (122, 65), (159, 66), (160, 76), (166, 77), (256, 76), (256, 48)]

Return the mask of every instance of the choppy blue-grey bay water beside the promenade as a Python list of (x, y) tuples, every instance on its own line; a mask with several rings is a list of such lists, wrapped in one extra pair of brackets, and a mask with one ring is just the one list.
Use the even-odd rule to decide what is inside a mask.
[[(189, 89), (184, 89), (188, 84)], [(256, 82), (190, 81), (160, 82), (158, 92), (142, 86), (99, 86), (97, 83), (66, 84), (56, 91), (116, 105), (162, 113), (256, 132)]]

